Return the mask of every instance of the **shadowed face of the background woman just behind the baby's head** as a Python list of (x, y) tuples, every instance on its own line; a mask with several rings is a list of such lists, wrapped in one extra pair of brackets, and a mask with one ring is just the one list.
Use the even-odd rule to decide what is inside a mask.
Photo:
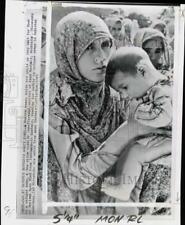
[(163, 42), (160, 37), (144, 42), (143, 49), (146, 51), (155, 68), (161, 64), (161, 57), (164, 53)]

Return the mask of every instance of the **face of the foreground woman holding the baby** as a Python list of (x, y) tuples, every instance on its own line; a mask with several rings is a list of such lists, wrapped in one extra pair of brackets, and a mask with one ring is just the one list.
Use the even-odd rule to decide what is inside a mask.
[(103, 81), (111, 52), (112, 41), (109, 38), (95, 40), (86, 48), (78, 60), (77, 65), (80, 74), (90, 81)]

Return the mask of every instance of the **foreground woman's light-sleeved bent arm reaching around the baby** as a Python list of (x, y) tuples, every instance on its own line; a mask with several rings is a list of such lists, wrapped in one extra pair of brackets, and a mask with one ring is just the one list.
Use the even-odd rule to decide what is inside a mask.
[(49, 139), (68, 186), (84, 190), (114, 165), (131, 140), (152, 131), (137, 122), (124, 123), (97, 150), (85, 156), (76, 145), (77, 134), (64, 135), (49, 126)]

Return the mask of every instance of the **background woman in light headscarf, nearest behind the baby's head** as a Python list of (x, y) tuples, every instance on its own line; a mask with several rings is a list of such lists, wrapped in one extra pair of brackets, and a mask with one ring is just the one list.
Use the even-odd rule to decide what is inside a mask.
[(143, 48), (161, 73), (170, 70), (169, 46), (164, 35), (153, 28), (142, 28), (134, 37), (134, 45)]

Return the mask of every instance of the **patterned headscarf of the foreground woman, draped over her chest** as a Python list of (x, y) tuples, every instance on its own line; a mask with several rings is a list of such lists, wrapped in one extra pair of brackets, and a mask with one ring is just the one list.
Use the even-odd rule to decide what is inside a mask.
[(77, 67), (86, 48), (102, 37), (112, 40), (104, 21), (84, 11), (68, 14), (56, 27), (54, 44), (58, 71), (50, 77), (50, 113), (63, 117), (61, 112), (65, 112), (64, 119), (80, 134), (79, 143), (85, 151), (97, 148), (118, 126), (115, 121), (119, 113), (115, 106), (119, 102), (112, 97), (110, 88), (104, 81), (87, 80)]

